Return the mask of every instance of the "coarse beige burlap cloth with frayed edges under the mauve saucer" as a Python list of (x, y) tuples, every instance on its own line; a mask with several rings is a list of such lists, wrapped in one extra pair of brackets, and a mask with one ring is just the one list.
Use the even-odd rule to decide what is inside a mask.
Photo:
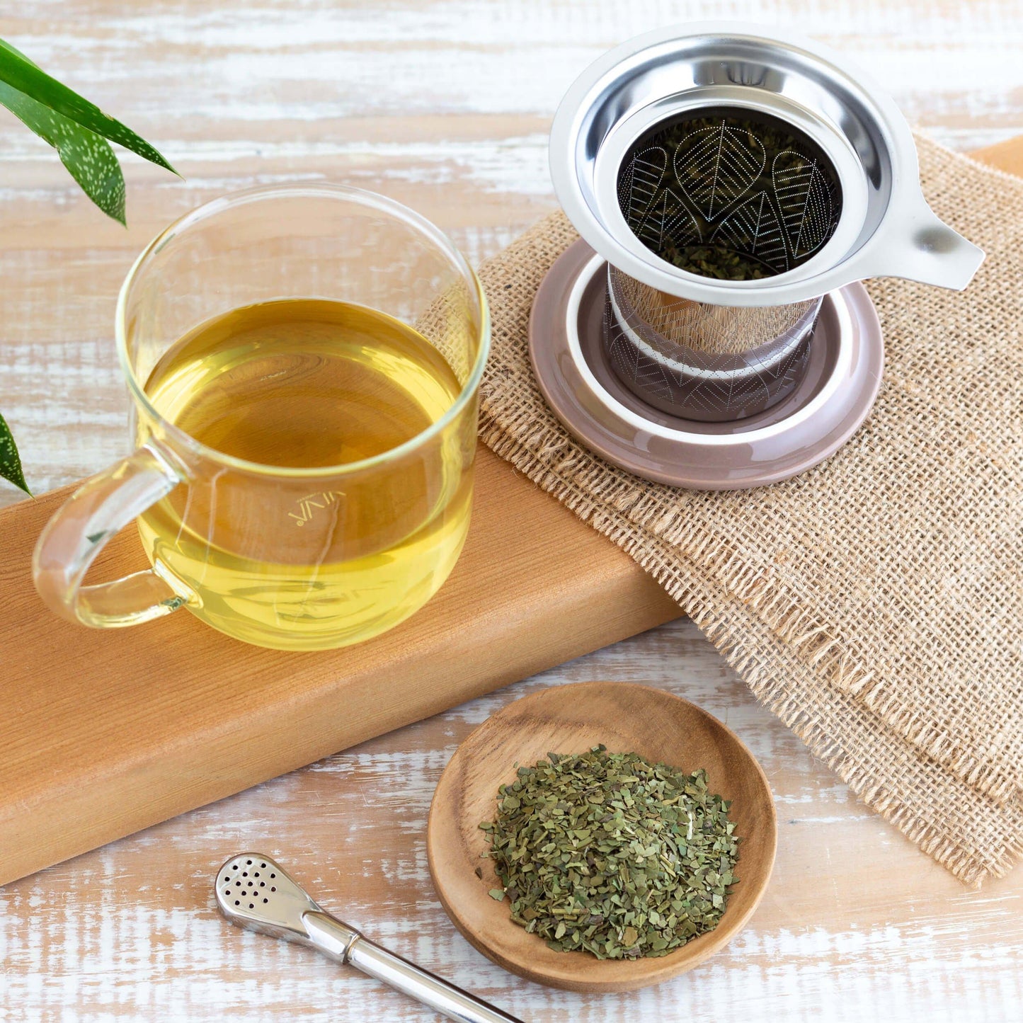
[(757, 698), (968, 884), (1023, 848), (1023, 181), (918, 138), (935, 212), (987, 253), (965, 293), (869, 284), (884, 384), (837, 454), (755, 490), (677, 490), (564, 430), (527, 322), (561, 213), (484, 265), (485, 442), (627, 550)]

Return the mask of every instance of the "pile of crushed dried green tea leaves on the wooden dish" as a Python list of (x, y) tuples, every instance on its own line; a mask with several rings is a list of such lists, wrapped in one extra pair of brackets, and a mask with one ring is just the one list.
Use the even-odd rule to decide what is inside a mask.
[(551, 948), (665, 955), (724, 913), (739, 839), (707, 774), (637, 753), (548, 753), (498, 790), (480, 827), (511, 919)]

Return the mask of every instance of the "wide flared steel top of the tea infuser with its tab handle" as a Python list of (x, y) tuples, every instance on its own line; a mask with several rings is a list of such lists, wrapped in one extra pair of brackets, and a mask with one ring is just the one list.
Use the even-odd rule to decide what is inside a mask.
[[(630, 227), (619, 186), (635, 143), (652, 129), (708, 115), (780, 122), (814, 147), (816, 168), (783, 174), (774, 184), (787, 232), (798, 236), (812, 221), (799, 253), (806, 258), (798, 265), (784, 268), (783, 262), (779, 272), (759, 280), (714, 280), (665, 263)], [(762, 149), (756, 139), (745, 143), (727, 131), (725, 137), (732, 140), (731, 180), (724, 186), (720, 174), (714, 178), (714, 168), (728, 158), (700, 163), (697, 152), (700, 184), (691, 189), (710, 217), (719, 218), (722, 231), (728, 221), (753, 215), (750, 199), (756, 196), (743, 189), (749, 168), (739, 151), (752, 146), (746, 160), (757, 162)], [(713, 134), (707, 141), (713, 150)], [(884, 90), (838, 53), (773, 30), (697, 23), (658, 29), (611, 50), (562, 100), (550, 130), (550, 171), (569, 219), (612, 266), (693, 301), (779, 306), (879, 276), (963, 288), (983, 259), (928, 207), (913, 134)], [(808, 197), (821, 203), (829, 187), (840, 204), (833, 199), (815, 217), (800, 212), (813, 205)], [(750, 208), (737, 210), (739, 201)], [(809, 235), (816, 247), (807, 243)]]

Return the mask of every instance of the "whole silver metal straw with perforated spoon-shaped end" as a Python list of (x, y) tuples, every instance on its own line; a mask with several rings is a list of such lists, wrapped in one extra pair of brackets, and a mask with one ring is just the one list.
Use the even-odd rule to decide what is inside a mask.
[(214, 880), (220, 911), (238, 927), (309, 945), (354, 966), (462, 1023), (521, 1023), (461, 988), (389, 952), (322, 909), (283, 868), (261, 852), (239, 852)]

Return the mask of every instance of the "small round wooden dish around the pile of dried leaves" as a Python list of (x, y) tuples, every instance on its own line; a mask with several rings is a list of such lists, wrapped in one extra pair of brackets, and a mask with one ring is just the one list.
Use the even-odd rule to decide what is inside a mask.
[[(712, 791), (731, 800), (742, 838), (739, 883), (717, 927), (658, 959), (597, 960), (554, 951), (508, 916), (481, 820), (494, 815), (497, 788), (515, 781), (515, 764), (548, 751), (580, 753), (603, 743), (685, 771), (705, 767)], [(437, 894), (455, 927), (484, 955), (528, 980), (571, 991), (627, 991), (691, 970), (731, 940), (750, 919), (774, 864), (777, 822), (760, 765), (733, 731), (686, 700), (647, 685), (580, 682), (509, 704), (455, 751), (430, 807), (427, 852)], [(482, 879), (476, 876), (480, 868)]]

